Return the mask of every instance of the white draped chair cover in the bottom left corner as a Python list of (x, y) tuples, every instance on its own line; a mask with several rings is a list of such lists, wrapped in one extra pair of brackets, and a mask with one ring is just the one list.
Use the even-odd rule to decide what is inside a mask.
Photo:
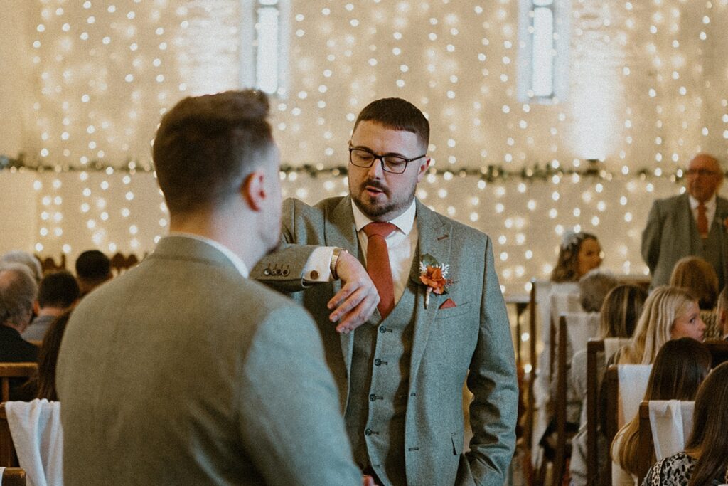
[(5, 412), (28, 486), (63, 486), (60, 401), (7, 401)]

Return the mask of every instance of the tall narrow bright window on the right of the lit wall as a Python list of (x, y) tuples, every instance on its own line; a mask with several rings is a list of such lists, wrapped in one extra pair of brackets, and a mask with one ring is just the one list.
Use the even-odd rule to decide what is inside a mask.
[(518, 99), (553, 103), (569, 83), (569, 0), (521, 0)]

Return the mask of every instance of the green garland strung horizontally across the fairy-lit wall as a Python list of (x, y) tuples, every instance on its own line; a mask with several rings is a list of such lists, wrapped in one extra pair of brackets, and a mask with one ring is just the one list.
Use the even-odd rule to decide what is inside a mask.
[[(586, 168), (570, 168), (564, 169), (558, 167), (553, 163), (540, 165), (534, 164), (531, 167), (521, 168), (516, 171), (510, 171), (503, 168), (502, 165), (486, 165), (481, 168), (446, 168), (438, 169), (431, 167), (428, 171), (430, 174), (436, 176), (458, 176), (464, 177), (477, 177), (478, 179), (486, 182), (505, 182), (513, 179), (521, 181), (547, 181), (554, 176), (564, 177), (578, 175), (579, 177), (586, 177), (593, 180), (611, 181), (614, 179), (614, 173), (606, 171), (604, 164), (597, 160), (587, 160)], [(106, 172), (111, 173), (148, 173), (153, 172), (154, 168), (151, 164), (139, 164), (134, 160), (127, 160), (123, 165), (109, 165), (101, 163), (98, 160), (92, 160), (87, 165), (73, 166), (73, 165), (28, 165), (25, 163), (24, 154), (19, 154), (17, 157), (12, 158), (7, 155), (0, 155), (0, 171), (31, 171), (31, 172)], [(281, 165), (281, 173), (285, 176), (289, 174), (306, 174), (306, 176), (312, 179), (318, 179), (321, 177), (339, 177), (347, 176), (349, 168), (346, 165), (338, 165), (336, 167), (321, 168), (320, 165), (304, 164), (304, 165)], [(632, 177), (635, 179), (645, 180), (648, 177), (652, 178), (668, 178), (670, 181), (680, 181), (684, 177), (683, 171), (675, 171), (667, 173), (663, 171), (660, 176), (654, 173), (654, 170), (641, 168), (638, 171), (631, 172)]]

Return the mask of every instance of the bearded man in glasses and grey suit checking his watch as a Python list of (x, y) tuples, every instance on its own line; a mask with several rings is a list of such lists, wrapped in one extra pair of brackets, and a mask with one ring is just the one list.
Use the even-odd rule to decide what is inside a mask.
[(349, 195), (285, 201), (289, 245), (253, 275), (301, 290), (365, 474), (381, 485), (502, 485), (518, 404), (510, 327), (490, 238), (415, 197), (429, 138), (408, 101), (366, 106), (349, 142)]

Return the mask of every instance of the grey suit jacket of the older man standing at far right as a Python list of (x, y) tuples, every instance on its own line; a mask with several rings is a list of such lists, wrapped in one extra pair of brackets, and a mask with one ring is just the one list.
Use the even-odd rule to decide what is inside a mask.
[(716, 215), (708, 222), (708, 238), (697, 232), (687, 192), (654, 201), (642, 232), (642, 258), (652, 274), (652, 287), (667, 285), (673, 267), (684, 256), (700, 256), (718, 274), (719, 289), (728, 281), (728, 200), (716, 197)]

